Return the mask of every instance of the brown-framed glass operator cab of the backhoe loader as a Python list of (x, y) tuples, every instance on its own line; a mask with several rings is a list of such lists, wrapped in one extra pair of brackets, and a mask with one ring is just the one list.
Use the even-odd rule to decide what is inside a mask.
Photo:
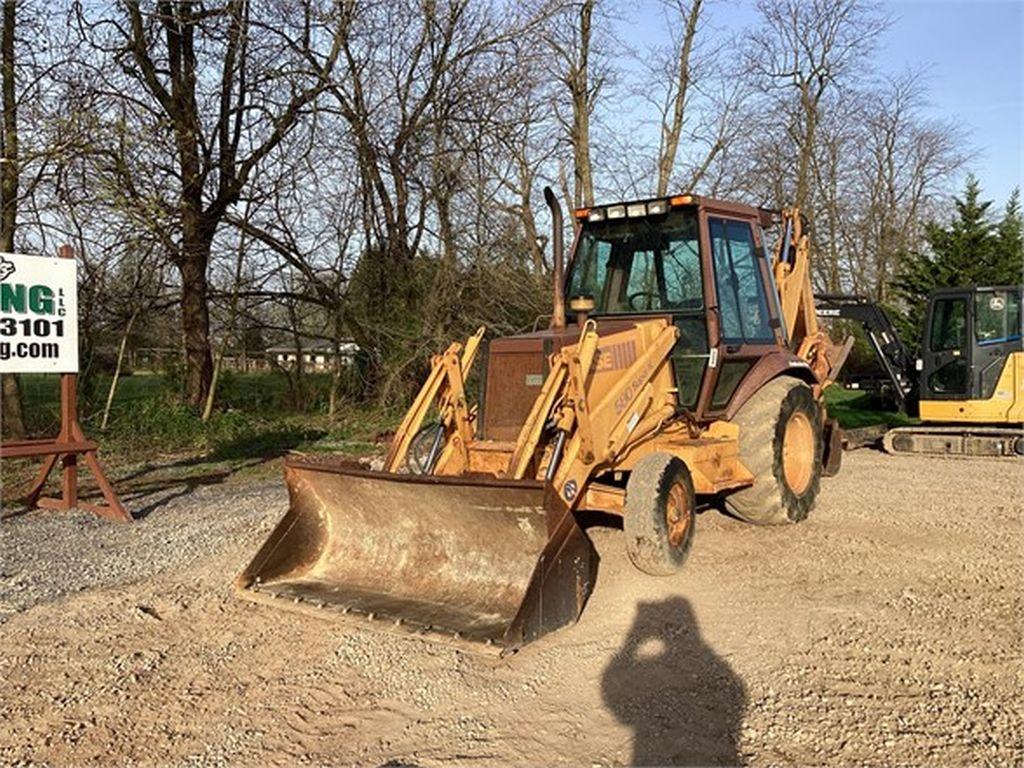
[(682, 408), (721, 413), (754, 365), (784, 343), (767, 212), (687, 195), (581, 209), (575, 218), (566, 304), (586, 306), (585, 317), (669, 315), (679, 329)]

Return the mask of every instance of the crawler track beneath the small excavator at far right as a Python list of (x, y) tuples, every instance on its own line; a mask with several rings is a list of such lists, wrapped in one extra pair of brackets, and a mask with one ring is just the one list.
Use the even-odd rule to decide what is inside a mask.
[(1024, 456), (1024, 430), (1013, 427), (896, 427), (882, 437), (887, 454)]

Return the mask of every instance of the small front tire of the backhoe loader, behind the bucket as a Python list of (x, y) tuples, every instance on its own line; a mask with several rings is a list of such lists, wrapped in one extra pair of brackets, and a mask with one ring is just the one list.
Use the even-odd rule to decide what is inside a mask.
[(644, 573), (672, 575), (693, 544), (696, 501), (693, 479), (672, 454), (641, 459), (626, 483), (626, 553)]

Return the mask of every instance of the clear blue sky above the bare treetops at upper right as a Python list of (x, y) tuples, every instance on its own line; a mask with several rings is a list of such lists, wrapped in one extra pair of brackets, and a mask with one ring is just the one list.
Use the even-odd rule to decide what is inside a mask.
[[(928, 114), (958, 122), (977, 152), (970, 170), (985, 199), (1000, 206), (1024, 177), (1024, 0), (907, 0), (884, 2), (893, 19), (871, 63), (882, 73), (924, 70)], [(757, 23), (754, 0), (709, 5), (718, 28)], [(658, 0), (624, 5), (618, 35), (628, 45), (667, 43)]]

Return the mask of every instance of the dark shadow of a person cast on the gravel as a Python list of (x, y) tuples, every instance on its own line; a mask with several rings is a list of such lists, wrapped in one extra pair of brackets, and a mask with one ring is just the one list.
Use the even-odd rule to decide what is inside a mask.
[(746, 689), (700, 637), (682, 597), (640, 603), (601, 682), (633, 729), (631, 765), (739, 765)]

